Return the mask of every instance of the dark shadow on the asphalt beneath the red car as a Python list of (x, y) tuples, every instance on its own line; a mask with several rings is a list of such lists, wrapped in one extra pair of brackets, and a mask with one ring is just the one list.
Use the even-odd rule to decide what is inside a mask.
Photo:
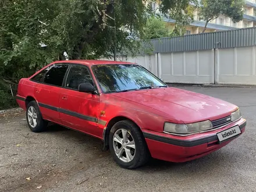
[[(103, 143), (98, 138), (88, 136), (87, 134), (80, 133), (79, 131), (67, 129), (66, 127), (56, 125), (54, 123), (49, 123), (45, 133), (56, 134), (59, 137), (65, 137), (65, 138), (69, 137), (69, 139), (71, 139), (73, 142), (77, 142), (78, 144), (83, 144), (84, 146), (86, 146), (86, 148), (88, 147), (86, 150), (90, 150), (90, 149), (95, 150), (95, 148), (98, 148), (97, 150), (98, 152), (102, 151), (102, 154), (105, 154), (104, 155), (105, 158), (108, 158), (109, 161), (113, 161), (110, 152), (102, 150)], [(151, 158), (146, 165), (136, 170), (138, 172), (145, 172), (145, 173), (152, 172), (152, 170), (158, 171), (158, 172), (165, 171), (165, 170), (172, 170), (172, 171), (175, 170), (177, 172), (180, 172), (180, 171), (183, 172), (183, 169), (184, 170), (189, 169), (190, 172), (198, 172), (200, 170), (208, 170), (209, 172), (211, 172), (211, 170), (216, 169), (216, 166), (218, 167), (218, 164), (221, 165), (222, 161), (231, 162), (232, 157), (229, 157), (229, 155), (225, 155), (225, 157), (223, 157), (223, 151), (218, 150), (205, 157), (195, 159), (189, 162), (183, 162), (183, 163), (173, 163), (173, 162), (161, 161), (158, 159)]]

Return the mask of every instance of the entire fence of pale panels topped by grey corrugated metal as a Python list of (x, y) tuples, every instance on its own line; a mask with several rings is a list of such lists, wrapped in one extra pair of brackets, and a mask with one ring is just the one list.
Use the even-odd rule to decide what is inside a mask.
[(119, 60), (138, 63), (167, 83), (256, 85), (256, 27), (150, 42), (151, 55)]

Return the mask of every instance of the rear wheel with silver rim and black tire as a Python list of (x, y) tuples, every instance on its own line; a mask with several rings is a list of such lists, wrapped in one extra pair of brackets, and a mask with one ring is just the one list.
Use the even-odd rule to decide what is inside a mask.
[[(31, 112), (33, 114), (32, 116)], [(27, 105), (26, 118), (27, 125), (29, 125), (30, 130), (33, 131), (34, 133), (44, 131), (48, 125), (48, 122), (42, 119), (42, 115), (36, 101), (30, 101)], [(36, 119), (36, 123), (34, 119)]]

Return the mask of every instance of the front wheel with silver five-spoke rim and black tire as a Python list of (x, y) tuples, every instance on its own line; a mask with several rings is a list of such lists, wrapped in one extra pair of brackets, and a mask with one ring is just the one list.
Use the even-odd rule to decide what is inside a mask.
[[(125, 133), (125, 140), (123, 140), (123, 133)], [(125, 169), (143, 166), (150, 158), (150, 152), (140, 128), (130, 120), (122, 120), (113, 125), (109, 133), (109, 150), (115, 162)]]

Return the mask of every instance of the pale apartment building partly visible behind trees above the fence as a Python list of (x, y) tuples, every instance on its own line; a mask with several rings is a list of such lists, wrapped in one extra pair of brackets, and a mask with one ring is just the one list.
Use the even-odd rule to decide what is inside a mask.
[[(223, 31), (223, 30), (234, 30), (234, 29), (241, 29), (247, 27), (254, 27), (256, 26), (256, 0), (247, 0), (245, 1), (244, 6), (244, 18), (238, 23), (233, 23), (232, 19), (226, 16), (220, 15), (217, 19), (212, 20), (207, 25), (207, 30), (205, 33), (208, 32), (215, 32), (215, 31)], [(152, 9), (158, 9), (158, 3), (152, 3)], [(168, 19), (163, 17), (163, 20), (168, 23), (168, 26), (174, 27), (175, 20)], [(198, 10), (194, 11), (194, 22), (190, 23), (189, 26), (186, 26), (186, 34), (198, 34), (204, 29), (205, 22), (200, 20), (198, 17)]]

